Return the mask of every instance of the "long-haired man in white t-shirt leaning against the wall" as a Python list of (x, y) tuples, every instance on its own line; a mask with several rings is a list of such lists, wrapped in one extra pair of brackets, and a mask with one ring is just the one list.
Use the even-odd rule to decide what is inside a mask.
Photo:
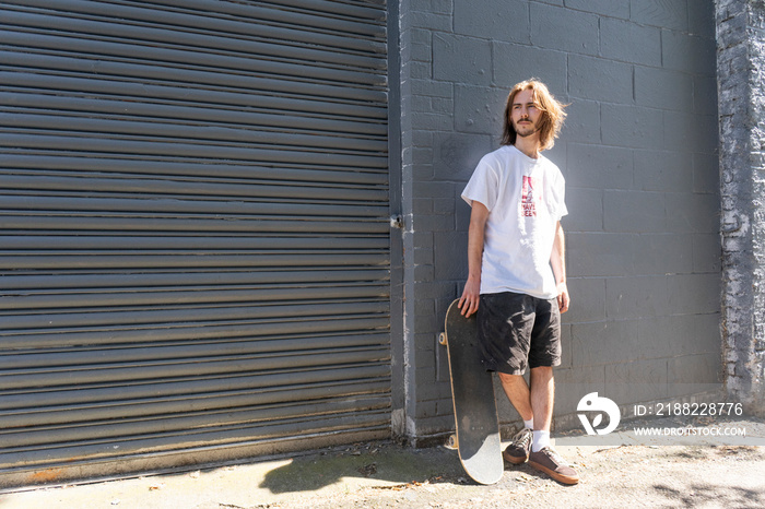
[(553, 146), (563, 109), (539, 81), (510, 91), (503, 146), (481, 159), (462, 193), (472, 212), (459, 308), (467, 317), (478, 312), (483, 365), (498, 372), (525, 423), (505, 460), (528, 460), (555, 481), (576, 484), (576, 471), (550, 447), (553, 366), (561, 364), (561, 313), (570, 299), (560, 222), (567, 214), (565, 182), (541, 152)]

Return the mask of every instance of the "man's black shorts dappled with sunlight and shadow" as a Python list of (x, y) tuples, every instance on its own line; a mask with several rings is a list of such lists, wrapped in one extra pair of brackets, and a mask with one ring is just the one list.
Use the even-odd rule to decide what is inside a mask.
[(481, 295), (479, 345), (486, 370), (523, 375), (527, 367), (561, 364), (557, 299), (505, 292)]

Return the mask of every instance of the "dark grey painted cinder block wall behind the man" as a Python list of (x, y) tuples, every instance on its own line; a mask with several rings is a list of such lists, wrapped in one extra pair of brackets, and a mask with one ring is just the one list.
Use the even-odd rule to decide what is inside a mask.
[[(546, 153), (567, 180), (569, 291), (558, 425), (588, 391), (680, 396), (720, 374), (713, 0), (402, 0), (405, 419), (454, 428), (436, 339), (467, 276), (459, 198), (498, 146), (508, 88), (569, 104)], [(502, 399), (504, 422), (515, 413)]]

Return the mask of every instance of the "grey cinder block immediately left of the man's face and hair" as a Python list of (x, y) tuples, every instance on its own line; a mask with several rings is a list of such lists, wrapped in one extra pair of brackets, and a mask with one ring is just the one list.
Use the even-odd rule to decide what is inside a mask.
[(455, 85), (455, 129), (490, 134), (498, 140), (504, 127), (507, 91), (484, 86)]

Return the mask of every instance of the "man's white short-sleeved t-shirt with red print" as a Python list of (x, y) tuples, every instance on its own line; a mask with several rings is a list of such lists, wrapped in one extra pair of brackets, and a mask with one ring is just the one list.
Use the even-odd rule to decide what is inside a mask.
[(550, 264), (555, 227), (568, 213), (565, 180), (550, 159), (505, 145), (481, 158), (462, 199), (486, 205), (481, 293), (557, 297)]

